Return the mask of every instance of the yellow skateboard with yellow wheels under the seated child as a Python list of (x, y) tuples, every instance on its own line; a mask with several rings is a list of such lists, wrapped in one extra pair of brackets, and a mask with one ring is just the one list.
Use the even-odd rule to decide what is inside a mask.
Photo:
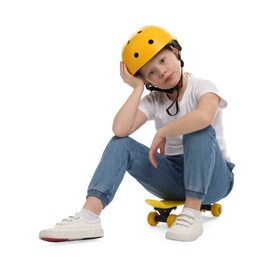
[[(171, 227), (176, 219), (176, 215), (171, 214), (171, 211), (184, 205), (184, 201), (180, 200), (146, 199), (145, 202), (155, 210), (149, 212), (147, 216), (147, 222), (151, 226), (156, 226), (159, 222), (166, 222), (168, 227)], [(214, 217), (219, 217), (222, 213), (222, 205), (219, 203), (202, 205), (201, 211), (211, 211)]]

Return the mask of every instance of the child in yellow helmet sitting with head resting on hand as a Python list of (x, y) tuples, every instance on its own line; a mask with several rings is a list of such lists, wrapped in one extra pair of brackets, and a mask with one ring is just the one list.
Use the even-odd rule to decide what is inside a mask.
[[(216, 86), (183, 72), (181, 46), (166, 30), (145, 26), (124, 45), (120, 75), (133, 91), (113, 121), (108, 143), (79, 213), (42, 230), (40, 239), (66, 241), (103, 237), (101, 211), (125, 172), (161, 199), (184, 200), (167, 239), (196, 240), (203, 233), (200, 207), (226, 197), (234, 164), (223, 137), (227, 102)], [(144, 88), (151, 92), (142, 96)], [(147, 120), (156, 134), (150, 148), (129, 137)]]

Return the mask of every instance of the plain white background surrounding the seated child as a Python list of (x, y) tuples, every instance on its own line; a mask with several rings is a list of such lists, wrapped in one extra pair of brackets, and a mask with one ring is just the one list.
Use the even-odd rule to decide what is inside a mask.
[[(0, 258), (278, 259), (278, 23), (275, 0), (1, 1)], [(41, 229), (83, 205), (131, 93), (119, 75), (122, 46), (145, 25), (175, 35), (185, 70), (229, 103), (236, 179), (223, 214), (204, 214), (195, 242), (168, 241), (165, 224), (146, 222), (150, 194), (126, 175), (101, 215), (104, 238), (41, 241)], [(133, 136), (149, 145), (153, 134), (148, 123)]]

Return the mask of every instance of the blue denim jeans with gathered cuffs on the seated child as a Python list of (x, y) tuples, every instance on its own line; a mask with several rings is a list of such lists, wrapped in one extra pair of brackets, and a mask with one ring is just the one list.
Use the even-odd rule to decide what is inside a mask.
[(148, 159), (148, 147), (131, 137), (114, 136), (91, 179), (87, 197), (99, 198), (106, 207), (126, 172), (161, 199), (190, 196), (209, 204), (226, 197), (233, 187), (234, 164), (223, 159), (213, 127), (184, 135), (183, 147), (181, 155), (162, 157), (158, 153), (156, 169)]

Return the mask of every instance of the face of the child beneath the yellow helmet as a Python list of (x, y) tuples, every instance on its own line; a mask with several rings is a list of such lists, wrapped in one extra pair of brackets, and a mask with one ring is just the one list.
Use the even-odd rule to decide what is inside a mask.
[(140, 69), (140, 75), (145, 83), (161, 89), (175, 86), (181, 76), (177, 49), (160, 51)]

